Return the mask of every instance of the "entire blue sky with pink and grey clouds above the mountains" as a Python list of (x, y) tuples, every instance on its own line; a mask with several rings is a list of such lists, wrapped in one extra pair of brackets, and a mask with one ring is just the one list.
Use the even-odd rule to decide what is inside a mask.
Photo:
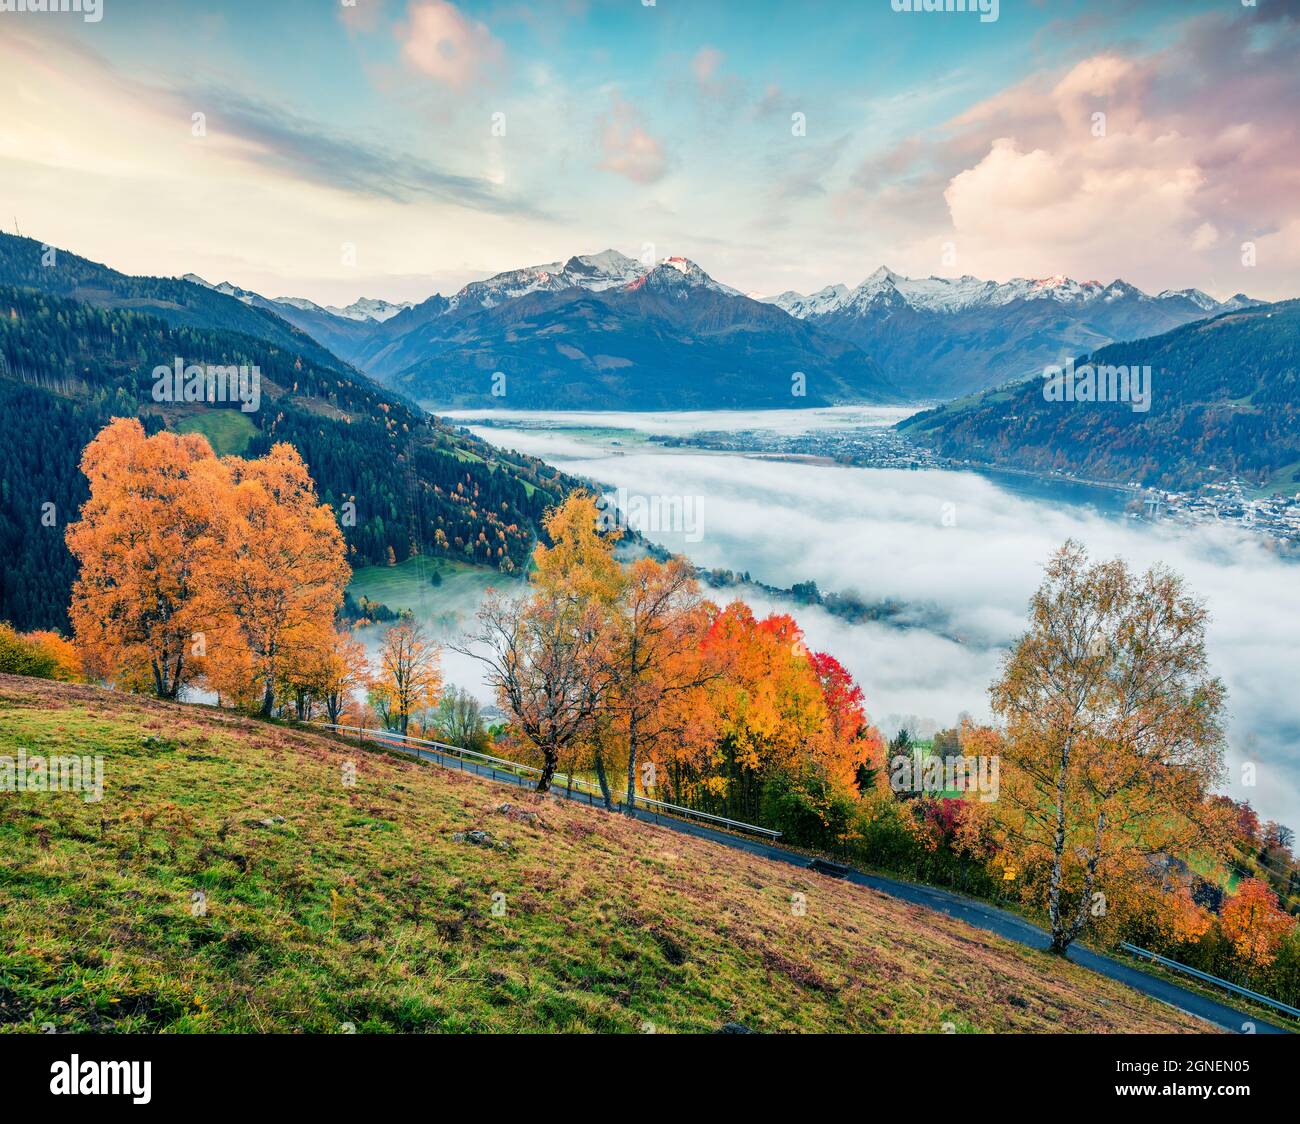
[(0, 227), (127, 273), (1300, 295), (1300, 0), (100, 3), (0, 10)]

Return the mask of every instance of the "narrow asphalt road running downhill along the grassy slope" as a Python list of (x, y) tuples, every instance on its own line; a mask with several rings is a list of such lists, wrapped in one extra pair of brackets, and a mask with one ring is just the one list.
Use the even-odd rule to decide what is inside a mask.
[[(415, 750), (404, 746), (395, 746), (393, 743), (386, 745), (390, 748), (399, 748), (402, 752), (411, 754), (412, 756), (437, 761), (450, 769), (477, 773), (478, 776), (489, 777), (508, 785), (516, 785), (523, 789), (533, 787), (533, 781), (529, 777), (521, 777), (516, 773), (508, 773), (502, 769), (491, 768), (490, 765), (474, 764), (463, 760), (462, 758), (439, 754), (428, 748)], [(560, 786), (554, 787), (551, 791), (558, 797), (568, 795)], [(603, 807), (599, 799), (594, 799), (586, 793), (573, 793), (569, 795), (569, 799), (578, 800), (584, 804), (592, 804), (598, 808)], [(737, 851), (759, 855), (760, 858), (771, 859), (776, 863), (789, 863), (793, 867), (803, 869), (807, 869), (809, 867), (810, 859), (807, 855), (801, 855), (797, 851), (788, 851), (784, 847), (774, 846), (772, 843), (767, 843), (762, 839), (750, 839), (744, 836), (734, 836), (731, 832), (720, 832), (715, 828), (705, 826), (703, 824), (697, 824), (690, 820), (679, 820), (675, 816), (659, 815), (646, 811), (645, 808), (637, 808), (636, 817), (638, 820), (645, 820), (646, 823), (658, 824), (662, 828), (668, 828), (673, 832), (696, 836), (701, 839), (710, 839), (724, 847), (732, 847)], [(937, 886), (902, 882), (897, 878), (885, 878), (880, 875), (863, 875), (858, 871), (850, 871), (844, 877), (844, 881), (857, 882), (859, 886), (870, 886), (872, 890), (889, 894), (892, 898), (898, 898), (900, 900), (910, 902), (915, 906), (923, 906), (927, 910), (936, 910), (940, 913), (948, 913), (948, 916), (957, 917), (976, 929), (985, 929), (1000, 937), (1005, 937), (1009, 941), (1018, 941), (1031, 949), (1045, 950), (1052, 942), (1050, 936), (1045, 929), (1040, 929), (1037, 925), (1031, 921), (1026, 921), (1017, 913), (1000, 910), (997, 906), (991, 906), (988, 902), (982, 902), (976, 898), (966, 898), (961, 894), (954, 894), (950, 890), (941, 890)], [(1164, 1003), (1169, 1003), (1173, 1007), (1187, 1011), (1190, 1015), (1204, 1019), (1206, 1023), (1213, 1023), (1216, 1027), (1231, 1030), (1235, 1034), (1290, 1033), (1282, 1027), (1265, 1023), (1261, 1019), (1256, 1019), (1252, 1015), (1238, 1011), (1226, 1003), (1209, 999), (1197, 991), (1190, 991), (1187, 988), (1182, 988), (1169, 980), (1162, 980), (1158, 976), (1152, 976), (1149, 972), (1143, 972), (1140, 968), (1135, 968), (1122, 960), (1114, 959), (1113, 956), (1095, 952), (1091, 949), (1072, 945), (1069, 950), (1069, 959), (1083, 965), (1084, 968), (1091, 968), (1093, 972), (1102, 976), (1109, 976), (1112, 980), (1118, 980), (1121, 984), (1127, 984), (1134, 990), (1150, 995), (1153, 999), (1160, 999)]]

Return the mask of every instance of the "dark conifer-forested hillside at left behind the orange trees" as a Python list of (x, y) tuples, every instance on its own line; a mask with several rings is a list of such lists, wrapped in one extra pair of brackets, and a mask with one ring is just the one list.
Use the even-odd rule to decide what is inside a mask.
[[(298, 342), (287, 325), (282, 331)], [(521, 565), (542, 512), (568, 482), (541, 461), (428, 418), (302, 342), (287, 347), (0, 286), (0, 620), (66, 628), (75, 567), (64, 529), (87, 494), (78, 459), (109, 418), (124, 416), (150, 431), (203, 431), (221, 453), (259, 456), (290, 442), (339, 515), (354, 565), (416, 551)], [(155, 403), (153, 368), (177, 357), (257, 365), (260, 408)]]

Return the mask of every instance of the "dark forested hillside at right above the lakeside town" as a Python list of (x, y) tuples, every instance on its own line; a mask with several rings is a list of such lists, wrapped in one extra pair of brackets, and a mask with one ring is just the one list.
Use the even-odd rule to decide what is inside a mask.
[(1230, 312), (1076, 360), (1150, 366), (1150, 409), (1048, 402), (1044, 381), (1004, 386), (907, 418), (945, 456), (1115, 482), (1191, 489), (1240, 477), (1297, 490), (1300, 301)]

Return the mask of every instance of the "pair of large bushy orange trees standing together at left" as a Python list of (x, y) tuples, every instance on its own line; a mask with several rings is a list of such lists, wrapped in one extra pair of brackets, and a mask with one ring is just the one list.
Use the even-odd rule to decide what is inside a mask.
[(335, 647), (343, 539), (291, 446), (218, 459), (198, 434), (148, 437), (117, 418), (82, 470), (70, 617), (101, 678), (161, 698), (202, 681), (269, 715), (286, 681)]

